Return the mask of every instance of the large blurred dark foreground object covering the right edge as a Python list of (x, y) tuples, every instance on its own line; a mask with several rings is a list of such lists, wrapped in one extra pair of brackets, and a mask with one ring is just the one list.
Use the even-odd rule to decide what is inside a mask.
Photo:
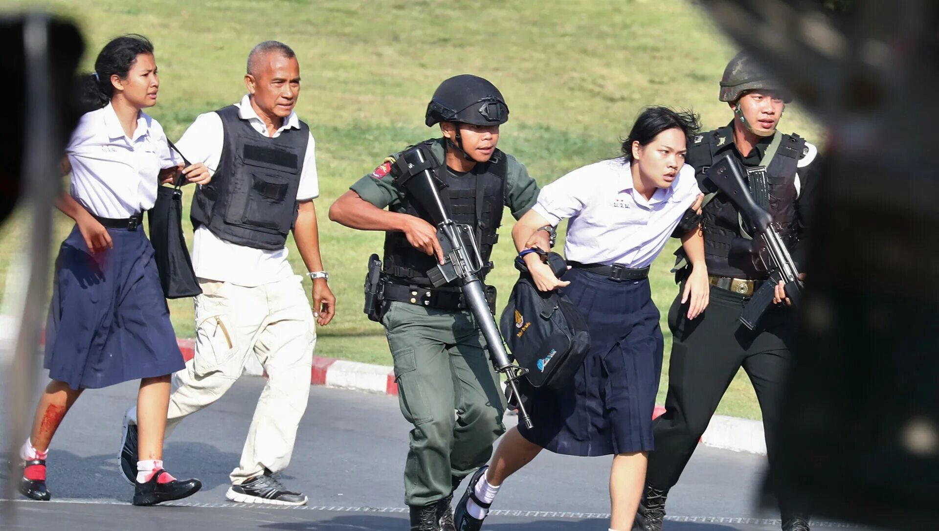
[(828, 131), (769, 490), (939, 529), (939, 2), (701, 4)]

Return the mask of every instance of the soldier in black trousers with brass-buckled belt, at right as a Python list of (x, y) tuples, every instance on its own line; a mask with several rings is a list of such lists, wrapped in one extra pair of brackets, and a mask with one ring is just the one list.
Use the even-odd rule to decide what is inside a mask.
[[(731, 201), (717, 193), (705, 175), (712, 162), (730, 153), (747, 168), (750, 191), (765, 194), (763, 204), (795, 261), (803, 262), (808, 231), (808, 208), (821, 168), (817, 150), (796, 134), (777, 130), (779, 118), (790, 101), (785, 89), (747, 55), (736, 55), (720, 82), (721, 101), (727, 101), (733, 120), (727, 126), (692, 139), (686, 162), (695, 168), (700, 189), (705, 191), (700, 216), (686, 216), (676, 233), (697, 225), (704, 235), (704, 251), (710, 276), (710, 305), (691, 321), (682, 311), (681, 290), (669, 312), (672, 347), (666, 413), (654, 422), (655, 450), (650, 453), (646, 488), (634, 530), (660, 531), (665, 499), (678, 482), (717, 404), (742, 367), (760, 401), (767, 455), (773, 460), (779, 394), (789, 364), (795, 315), (780, 286), (776, 306), (765, 311), (753, 330), (742, 326), (744, 305), (768, 278), (761, 260), (751, 249), (746, 222)], [(764, 176), (764, 178), (763, 178)], [(762, 183), (762, 186), (759, 186)], [(757, 203), (762, 203), (755, 197)], [(688, 269), (679, 250), (677, 280), (685, 281)], [(785, 302), (785, 304), (784, 304)], [(782, 528), (808, 531), (808, 521), (787, 500), (779, 500)]]

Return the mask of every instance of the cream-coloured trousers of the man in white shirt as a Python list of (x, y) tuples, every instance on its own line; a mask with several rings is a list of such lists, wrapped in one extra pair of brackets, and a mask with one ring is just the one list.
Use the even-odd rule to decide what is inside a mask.
[(257, 357), (268, 375), (232, 483), (290, 463), (300, 417), (310, 396), (316, 345), (313, 311), (294, 275), (257, 287), (200, 279), (195, 297), (195, 357), (174, 374), (167, 436), (184, 417), (215, 402)]

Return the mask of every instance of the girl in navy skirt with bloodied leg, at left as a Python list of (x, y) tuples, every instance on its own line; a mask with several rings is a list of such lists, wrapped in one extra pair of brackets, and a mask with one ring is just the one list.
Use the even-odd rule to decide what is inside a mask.
[(184, 363), (141, 219), (161, 180), (182, 171), (203, 184), (209, 175), (201, 164), (177, 164), (162, 127), (143, 112), (156, 104), (159, 87), (153, 45), (139, 35), (108, 42), (83, 80), (89, 112), (66, 148), (70, 190), (57, 203), (75, 226), (55, 261), (45, 353), (52, 382), (21, 449), (20, 492), (36, 500), (51, 498), (46, 458), (71, 405), (87, 388), (128, 380), (140, 380), (133, 504), (175, 500), (201, 487), (162, 466), (170, 375)]

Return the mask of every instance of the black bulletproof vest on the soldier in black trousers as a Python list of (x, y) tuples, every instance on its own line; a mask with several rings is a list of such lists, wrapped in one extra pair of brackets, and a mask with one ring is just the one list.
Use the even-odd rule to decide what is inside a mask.
[[(729, 134), (726, 129), (709, 131), (701, 135), (700, 142), (691, 145), (688, 150), (688, 163), (694, 166), (699, 175), (711, 166), (724, 145), (718, 145), (720, 139), (727, 138)], [(787, 247), (791, 247), (798, 237), (798, 217), (795, 209), (798, 193), (795, 188), (795, 174), (805, 145), (806, 141), (796, 134), (782, 135), (777, 153), (766, 167), (766, 197), (754, 198), (758, 204), (765, 205)], [(728, 148), (733, 149), (732, 146)], [(739, 157), (739, 154), (736, 156)], [(709, 274), (753, 280), (766, 278), (766, 268), (759, 254), (750, 252), (753, 242), (747, 232), (747, 221), (742, 219), (739, 211), (724, 194), (718, 192), (704, 205), (701, 212), (701, 229), (704, 233), (704, 255)]]

